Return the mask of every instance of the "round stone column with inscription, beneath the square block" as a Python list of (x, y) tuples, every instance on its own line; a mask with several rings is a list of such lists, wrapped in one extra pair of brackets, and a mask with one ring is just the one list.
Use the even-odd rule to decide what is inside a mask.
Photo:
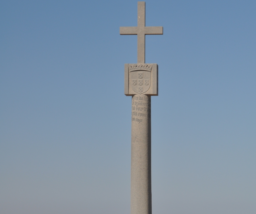
[(152, 214), (151, 97), (132, 96), (131, 214)]

